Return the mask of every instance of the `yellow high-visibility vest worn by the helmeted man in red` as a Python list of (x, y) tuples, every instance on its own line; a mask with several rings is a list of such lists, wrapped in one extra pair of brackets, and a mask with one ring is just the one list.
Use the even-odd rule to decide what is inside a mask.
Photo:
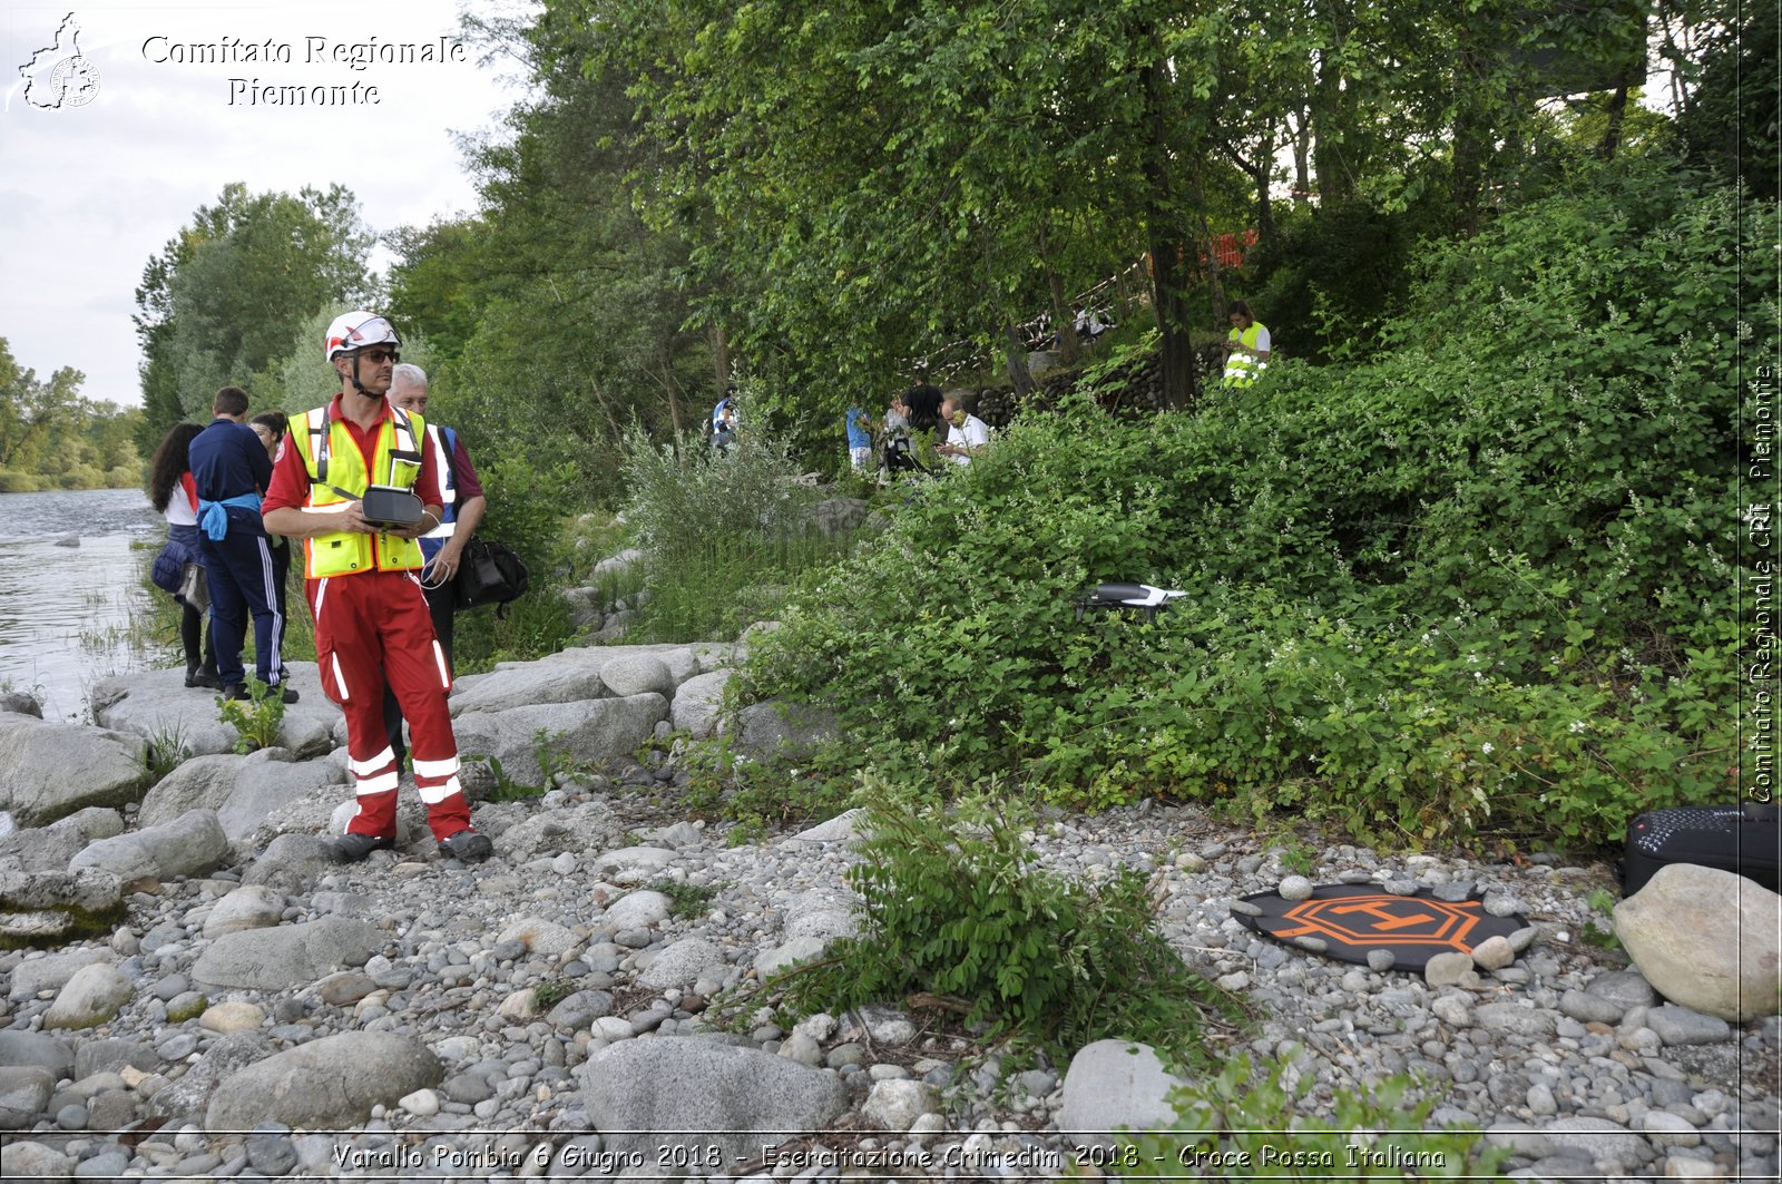
[[(413, 448), (415, 424), (426, 430), (426, 421), (397, 410), (378, 424), (378, 444), (371, 469), (387, 476), (380, 485), (413, 489), (421, 476), (421, 453)], [(408, 437), (408, 449), (397, 449), (397, 428)], [(298, 449), (310, 474), (310, 492), (305, 510), (340, 514), (372, 485), (365, 473), (365, 458), (344, 421), (330, 421), (328, 408), (317, 407), (305, 415), (301, 430), (287, 437)], [(406, 456), (413, 456), (408, 460)], [(360, 535), (331, 531), (303, 540), (303, 574), (310, 580), (351, 576), (362, 571), (413, 571), (421, 567), (421, 546), (410, 539), (390, 535)]]

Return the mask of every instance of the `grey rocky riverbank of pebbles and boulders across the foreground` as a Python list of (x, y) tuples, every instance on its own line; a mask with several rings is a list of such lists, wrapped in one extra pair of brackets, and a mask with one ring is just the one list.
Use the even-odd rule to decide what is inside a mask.
[[(349, 788), (314, 667), (298, 667), (292, 749), (253, 756), (225, 751), (233, 735), (178, 672), (102, 687), (103, 728), (0, 713), (7, 808), (59, 817), (0, 838), (9, 924), (53, 924), (77, 900), (103, 915), (107, 886), (123, 913), (0, 954), (5, 1175), (1057, 1179), (1101, 1173), (1078, 1148), (1096, 1141), (1060, 1132), (1167, 1123), (1169, 1082), (1124, 1047), (1005, 1063), (944, 1015), (795, 1022), (748, 997), (854, 931), (857, 820), (732, 847), (723, 826), (677, 815), (672, 754), (633, 760), (670, 729), (709, 733), (732, 660), (574, 649), (465, 678), (460, 745), (503, 770), (472, 779), (495, 842), (474, 867), (437, 858), (406, 792), (403, 847), (321, 858)], [(756, 711), (738, 740), (798, 744), (800, 728), (822, 720)], [(141, 745), (175, 733), (196, 756), (139, 806), (107, 793), (141, 785), (96, 792), (114, 752), (139, 772)], [(34, 752), (61, 774), (25, 792)], [(544, 797), (488, 801), (501, 779), (542, 777)], [(1299, 1047), (1304, 1113), (1408, 1072), (1429, 1082), (1435, 1125), (1513, 1150), (1511, 1177), (1777, 1179), (1782, 1024), (1666, 1002), (1627, 956), (1584, 943), (1607, 925), (1586, 900), (1613, 888), (1607, 867), (1288, 851), (1155, 802), (1048, 817), (1032, 845), (1062, 876), (1155, 877), (1187, 965), (1262, 1015), (1231, 1050)], [(1470, 890), (1531, 931), (1495, 966), (1349, 966), (1233, 915), (1296, 872)], [(725, 1129), (788, 1138), (764, 1150), (770, 1136)]]

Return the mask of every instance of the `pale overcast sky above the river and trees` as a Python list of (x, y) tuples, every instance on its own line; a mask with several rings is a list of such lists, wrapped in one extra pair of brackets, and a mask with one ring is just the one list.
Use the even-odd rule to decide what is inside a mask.
[[(340, 182), (378, 232), (474, 209), (453, 134), (497, 127), (524, 93), (517, 64), (479, 64), (481, 50), (469, 41), (463, 61), (440, 64), (355, 70), (331, 59), (335, 45), (349, 53), (372, 41), (438, 48), (444, 37), (451, 46), (462, 7), (463, 0), (0, 5), (0, 337), (12, 355), (39, 378), (73, 366), (87, 376), (89, 398), (139, 405), (135, 285), (148, 259), (228, 182), (251, 193)], [(485, 14), (531, 7), (476, 4)], [(43, 89), (30, 98), (20, 66), (55, 45), (69, 12), (98, 89), (84, 105), (64, 98), (59, 109), (43, 109), (30, 98), (57, 93), (48, 80), (66, 45), (39, 57)], [(290, 61), (176, 61), (194, 45), (228, 52), (230, 39), (237, 55), (246, 45), (289, 46)], [(305, 89), (356, 82), (362, 96), (376, 87), (380, 102), (251, 103), (253, 95), (230, 78)]]

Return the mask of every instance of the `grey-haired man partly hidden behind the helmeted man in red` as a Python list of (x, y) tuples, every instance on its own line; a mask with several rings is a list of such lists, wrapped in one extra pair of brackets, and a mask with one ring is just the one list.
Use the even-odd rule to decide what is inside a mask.
[[(453, 613), (458, 608), (454, 581), (458, 578), (463, 547), (483, 521), (488, 501), (483, 497), (483, 483), (470, 464), (470, 453), (463, 448), (463, 439), (451, 428), (442, 428), (428, 417), (428, 373), (412, 362), (401, 362), (390, 374), (390, 405), (405, 412), (415, 412), (428, 423), (424, 448), (433, 456), (440, 474), (440, 524), (421, 535), (421, 556), (426, 567), (421, 569), (421, 590), (428, 597), (428, 615), (433, 617), (433, 637), (446, 651), (446, 665), (451, 665)], [(390, 747), (396, 749), (396, 761), (401, 765), (403, 752), (403, 708), (396, 695), (385, 688), (383, 722), (390, 735)]]

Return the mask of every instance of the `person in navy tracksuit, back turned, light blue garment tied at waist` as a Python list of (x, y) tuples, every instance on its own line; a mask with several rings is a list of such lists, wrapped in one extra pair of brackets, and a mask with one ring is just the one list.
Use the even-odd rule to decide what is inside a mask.
[[(273, 458), (248, 426), (248, 392), (223, 387), (210, 403), (214, 419), (185, 455), (198, 487), (198, 547), (210, 585), (210, 637), (217, 647), (223, 697), (246, 699), (241, 645), (253, 613), (255, 674), (280, 683), (278, 649), (285, 621), (276, 608), (273, 551), (260, 522), (260, 494), (273, 480)], [(285, 703), (298, 692), (285, 687)]]

